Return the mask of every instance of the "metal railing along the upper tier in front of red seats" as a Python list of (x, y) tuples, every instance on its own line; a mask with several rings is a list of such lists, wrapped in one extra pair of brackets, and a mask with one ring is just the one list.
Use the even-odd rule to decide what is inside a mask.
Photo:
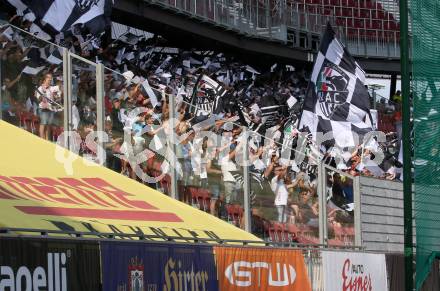
[[(324, 8), (320, 4), (269, 0), (144, 1), (249, 37), (311, 50), (317, 49), (317, 45), (311, 45), (312, 38), (319, 41), (330, 22), (355, 56), (399, 58), (400, 55), (399, 31), (394, 27), (396, 21), (390, 18), (391, 14), (387, 14), (388, 19), (366, 19), (341, 15), (339, 11), (347, 9), (342, 6)], [(355, 15), (355, 8), (351, 9)], [(301, 37), (306, 39), (305, 44), (301, 44)]]

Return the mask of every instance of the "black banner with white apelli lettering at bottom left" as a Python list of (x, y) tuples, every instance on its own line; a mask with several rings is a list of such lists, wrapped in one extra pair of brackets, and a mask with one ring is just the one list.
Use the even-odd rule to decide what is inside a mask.
[(98, 243), (0, 239), (0, 290), (101, 290)]

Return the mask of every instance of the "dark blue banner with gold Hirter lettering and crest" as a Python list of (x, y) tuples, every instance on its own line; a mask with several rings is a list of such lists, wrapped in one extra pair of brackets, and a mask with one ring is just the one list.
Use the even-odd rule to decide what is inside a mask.
[(215, 291), (210, 246), (102, 242), (103, 290)]

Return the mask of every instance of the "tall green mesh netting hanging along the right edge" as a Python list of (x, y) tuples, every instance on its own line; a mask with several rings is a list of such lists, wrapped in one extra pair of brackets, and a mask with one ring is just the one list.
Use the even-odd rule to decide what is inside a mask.
[(440, 250), (440, 3), (410, 1), (417, 290)]

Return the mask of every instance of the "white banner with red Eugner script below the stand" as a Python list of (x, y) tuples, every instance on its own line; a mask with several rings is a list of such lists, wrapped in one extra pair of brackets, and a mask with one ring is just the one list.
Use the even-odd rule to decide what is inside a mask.
[(324, 290), (388, 290), (384, 254), (322, 252)]

